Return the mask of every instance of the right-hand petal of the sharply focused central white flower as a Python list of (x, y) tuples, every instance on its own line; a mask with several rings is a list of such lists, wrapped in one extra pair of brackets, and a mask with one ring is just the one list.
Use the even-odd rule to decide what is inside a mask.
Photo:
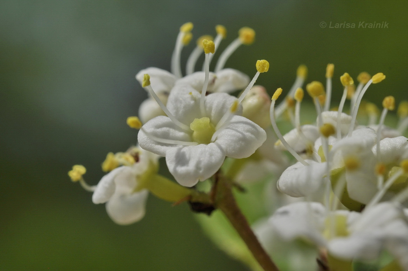
[(252, 155), (265, 140), (265, 130), (255, 122), (242, 116), (233, 116), (215, 142), (224, 148), (226, 156), (241, 159)]

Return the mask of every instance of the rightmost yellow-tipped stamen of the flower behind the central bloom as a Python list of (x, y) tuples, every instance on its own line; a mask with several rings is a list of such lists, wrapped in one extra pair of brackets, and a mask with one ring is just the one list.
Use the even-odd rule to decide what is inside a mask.
[(215, 65), (215, 73), (224, 68), (225, 63), (232, 53), (238, 49), (241, 44), (250, 45), (255, 40), (255, 31), (249, 27), (242, 27), (238, 31), (239, 37), (236, 38), (228, 47), (222, 52), (220, 58), (218, 58), (217, 64)]

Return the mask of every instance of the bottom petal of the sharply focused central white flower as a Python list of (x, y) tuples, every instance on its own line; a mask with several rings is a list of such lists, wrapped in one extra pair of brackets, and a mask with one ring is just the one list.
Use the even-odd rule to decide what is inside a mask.
[(171, 148), (166, 153), (166, 164), (176, 181), (192, 187), (220, 169), (225, 151), (217, 143)]

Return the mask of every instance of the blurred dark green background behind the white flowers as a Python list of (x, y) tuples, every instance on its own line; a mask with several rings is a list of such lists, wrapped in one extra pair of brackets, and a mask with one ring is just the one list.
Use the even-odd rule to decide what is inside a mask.
[[(195, 38), (224, 24), (222, 48), (253, 27), (256, 42), (227, 67), (253, 76), (256, 60), (268, 60), (257, 83), (270, 91), (287, 90), (302, 63), (308, 81), (324, 80), (335, 63), (336, 101), (345, 71), (384, 72), (366, 96), (380, 105), (387, 95), (407, 98), (407, 10), (407, 1), (2, 0), (0, 270), (247, 270), (204, 236), (186, 204), (150, 197), (142, 221), (118, 226), (67, 171), (84, 164), (96, 184), (106, 153), (136, 143), (125, 120), (147, 95), (134, 76), (169, 69), (184, 22), (195, 24)], [(361, 29), (361, 21), (388, 28)]]

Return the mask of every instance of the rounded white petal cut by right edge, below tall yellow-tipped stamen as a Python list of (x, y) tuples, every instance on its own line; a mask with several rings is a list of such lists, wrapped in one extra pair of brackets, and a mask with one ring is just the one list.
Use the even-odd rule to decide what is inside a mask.
[[(384, 138), (380, 141), (380, 157), (385, 164), (401, 162), (408, 158), (408, 138), (399, 136), (397, 138)], [(372, 149), (377, 156), (377, 146)]]

